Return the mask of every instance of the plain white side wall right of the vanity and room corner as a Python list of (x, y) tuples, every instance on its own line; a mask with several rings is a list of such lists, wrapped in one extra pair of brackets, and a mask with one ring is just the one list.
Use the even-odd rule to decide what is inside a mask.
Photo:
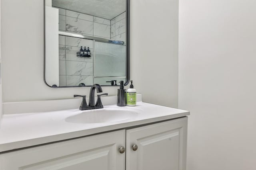
[(255, 170), (256, 1), (180, 0), (188, 170)]

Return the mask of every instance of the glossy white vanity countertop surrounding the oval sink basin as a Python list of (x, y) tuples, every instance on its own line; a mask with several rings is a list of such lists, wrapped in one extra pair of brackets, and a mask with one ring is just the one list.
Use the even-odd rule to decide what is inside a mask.
[(79, 109), (4, 115), (0, 127), (0, 152), (174, 119), (190, 114), (189, 111), (144, 102), (137, 102), (135, 107), (108, 105), (103, 109), (109, 108), (134, 111), (138, 115), (132, 119), (118, 122), (90, 124), (65, 121), (67, 117), (83, 112)]

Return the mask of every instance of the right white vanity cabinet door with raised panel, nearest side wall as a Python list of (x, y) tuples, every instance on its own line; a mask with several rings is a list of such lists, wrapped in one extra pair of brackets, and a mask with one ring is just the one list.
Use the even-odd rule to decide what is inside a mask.
[(126, 170), (186, 170), (187, 121), (183, 117), (127, 130)]

